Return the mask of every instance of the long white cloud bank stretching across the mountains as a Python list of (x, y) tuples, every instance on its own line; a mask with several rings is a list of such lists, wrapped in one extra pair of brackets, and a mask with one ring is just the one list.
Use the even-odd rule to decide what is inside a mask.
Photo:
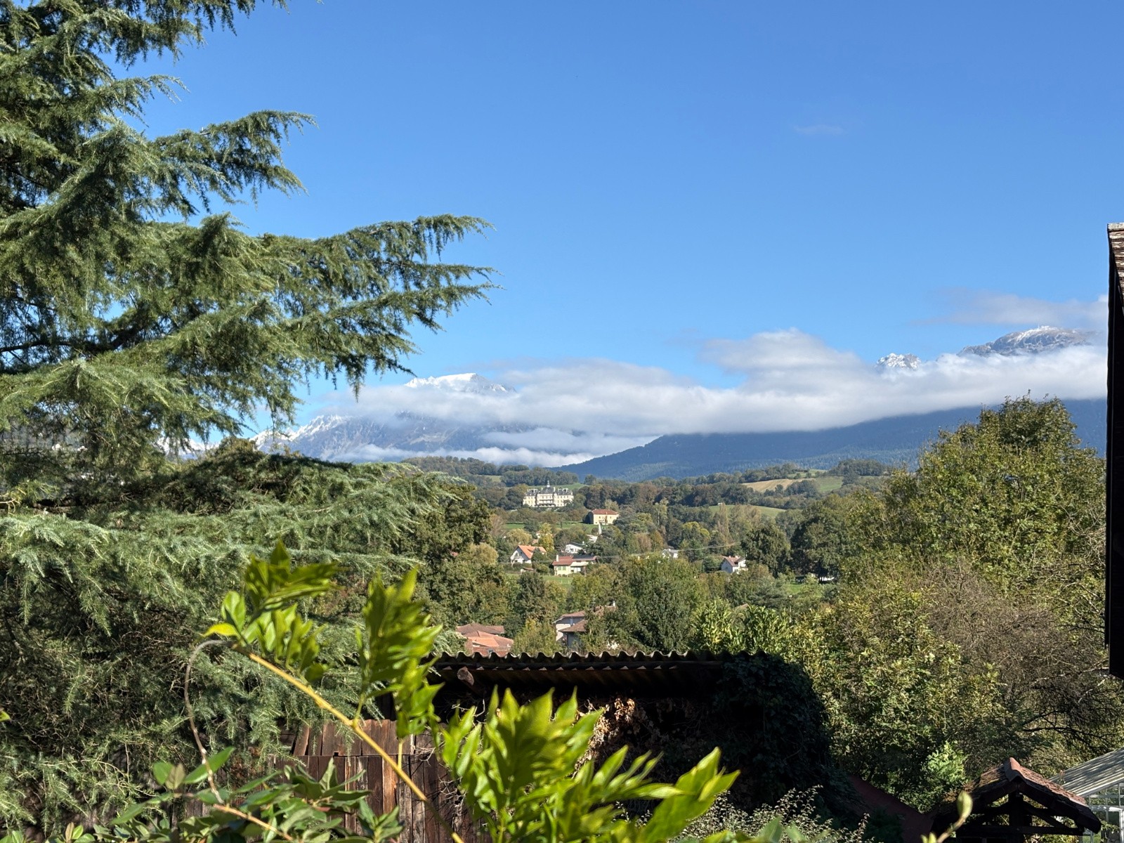
[[(986, 311), (1000, 303), (977, 297), (975, 318), (994, 324), (996, 319), (984, 317), (994, 317)], [(1045, 315), (1045, 305), (1055, 302), (1014, 303), (1019, 314)], [(1009, 314), (1012, 302), (1006, 306), (1004, 312)], [(461, 374), (375, 384), (364, 387), (357, 402), (350, 395), (326, 397), (332, 425), (342, 430), (361, 420), (366, 428), (338, 436), (328, 452), (333, 459), (401, 459), (428, 452), (560, 465), (665, 434), (817, 430), (997, 404), (1026, 393), (1103, 396), (1104, 335), (1089, 328), (1098, 310), (1103, 325), (1104, 302), (1058, 307), (1061, 312), (1053, 315), (1070, 316), (1077, 329), (1015, 332), (933, 360), (898, 348), (887, 350), (894, 354), (878, 364), (796, 328), (704, 343), (703, 360), (737, 377), (734, 387), (590, 357), (507, 368), (490, 379)], [(957, 319), (966, 314), (953, 308)], [(323, 426), (323, 419), (318, 422)], [(370, 433), (375, 427), (377, 435)]]

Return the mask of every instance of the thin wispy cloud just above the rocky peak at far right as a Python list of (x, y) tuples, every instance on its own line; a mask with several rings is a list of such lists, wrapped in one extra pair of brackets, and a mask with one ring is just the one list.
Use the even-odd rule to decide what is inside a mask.
[(1007, 325), (1028, 327), (1053, 325), (1055, 327), (1081, 328), (1104, 332), (1108, 321), (1108, 297), (1094, 301), (1069, 299), (1048, 301), (1028, 296), (991, 290), (968, 290), (961, 287), (942, 293), (949, 312), (930, 324), (954, 323), (959, 325)]

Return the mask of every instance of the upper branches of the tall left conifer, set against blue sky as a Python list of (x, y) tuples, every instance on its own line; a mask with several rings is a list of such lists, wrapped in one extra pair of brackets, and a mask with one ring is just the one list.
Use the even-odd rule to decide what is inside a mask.
[(297, 383), (357, 389), (402, 369), (411, 328), (488, 287), (487, 270), (433, 260), (486, 228), (472, 217), (247, 234), (237, 202), (300, 189), (281, 145), (305, 115), (135, 128), (174, 81), (117, 78), (110, 55), (175, 54), (254, 4), (0, 2), (0, 481), (13, 500), (81, 493), (145, 468), (157, 444), (235, 434), (262, 406), (290, 422)]

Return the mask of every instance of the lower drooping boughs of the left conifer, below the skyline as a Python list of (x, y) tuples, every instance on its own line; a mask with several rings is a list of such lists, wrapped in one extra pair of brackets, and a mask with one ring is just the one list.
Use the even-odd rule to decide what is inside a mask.
[[(302, 563), (338, 566), (342, 587), (309, 607), (334, 653), (352, 644), (369, 579), (417, 564), (405, 551), (426, 546), (435, 525), (464, 546), (487, 528), (473, 510), (452, 522), (465, 495), (410, 466), (323, 463), (232, 441), (124, 487), (124, 500), (0, 517), (0, 708), (11, 716), (0, 724), (0, 777), (10, 781), (0, 827), (105, 816), (157, 756), (190, 763), (176, 677), (197, 643), (191, 631), (251, 554), (269, 550), (262, 536), (284, 536)], [(324, 692), (338, 700), (333, 681)], [(200, 661), (193, 698), (208, 735), (247, 747), (275, 749), (282, 724), (319, 717), (244, 662)]]

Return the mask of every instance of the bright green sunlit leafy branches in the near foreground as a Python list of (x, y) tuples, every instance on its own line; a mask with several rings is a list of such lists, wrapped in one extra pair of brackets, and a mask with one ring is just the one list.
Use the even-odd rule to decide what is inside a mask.
[[(269, 559), (252, 558), (242, 591), (226, 595), (218, 623), (208, 629), (208, 635), (218, 638), (203, 642), (194, 658), (221, 644), (299, 688), (381, 755), (454, 843), (461, 843), (460, 836), (433, 801), (362, 729), (360, 718), (371, 700), (388, 695), (393, 699), (400, 737), (432, 731), (469, 814), (495, 843), (662, 843), (682, 835), (736, 778), (736, 772), (720, 770), (717, 750), (673, 785), (650, 781), (655, 760), (642, 755), (626, 763), (624, 749), (598, 765), (588, 754), (600, 711), (579, 714), (574, 697), (555, 710), (550, 694), (527, 705), (516, 703), (509, 692), (493, 695), (480, 716), (470, 709), (442, 725), (433, 707), (439, 686), (428, 681), (429, 654), (439, 627), (413, 600), (413, 572), (397, 584), (375, 579), (368, 588), (355, 634), (359, 670), (352, 694), (356, 705), (352, 715), (344, 714), (314, 687), (332, 665), (321, 659), (321, 628), (301, 610), (302, 601), (334, 590), (335, 574), (332, 564), (293, 568), (280, 543)], [(199, 749), (202, 763), (190, 772), (182, 765), (157, 764), (153, 773), (163, 790), (120, 814), (110, 828), (96, 828), (94, 837), (319, 843), (382, 841), (401, 830), (393, 812), (375, 815), (365, 800), (366, 791), (348, 790), (347, 782), (337, 783), (330, 770), (319, 780), (288, 770), (238, 786), (221, 785), (216, 773), (232, 751), (208, 754), (201, 738)], [(655, 804), (646, 821), (629, 817), (622, 807), (636, 799)], [(205, 806), (203, 816), (173, 825), (171, 817), (185, 800)], [(346, 817), (354, 818), (362, 836), (345, 831)], [(788, 831), (803, 840), (795, 830)], [(73, 833), (83, 834), (82, 830)], [(777, 843), (780, 836), (781, 830), (773, 828), (759, 840)], [(705, 840), (734, 843), (750, 837), (719, 832)]]

